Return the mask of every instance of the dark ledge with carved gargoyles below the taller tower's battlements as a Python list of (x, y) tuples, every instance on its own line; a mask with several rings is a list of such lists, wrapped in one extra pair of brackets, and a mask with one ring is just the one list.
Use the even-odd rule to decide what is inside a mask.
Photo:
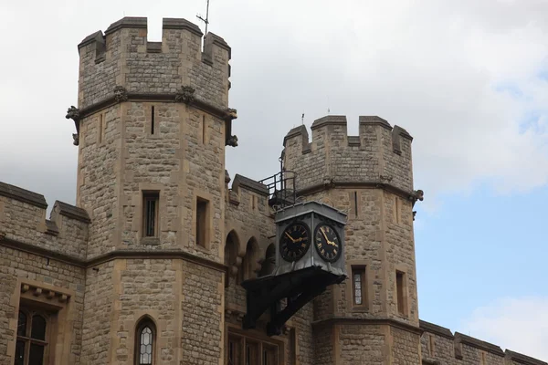
[(237, 146), (237, 136), (231, 135), (232, 120), (237, 119), (237, 110), (227, 108), (218, 108), (215, 105), (208, 103), (205, 100), (195, 98), (195, 89), (190, 86), (183, 86), (176, 93), (138, 93), (128, 92), (125, 88), (117, 86), (113, 90), (111, 97), (102, 99), (89, 107), (82, 110), (71, 106), (67, 110), (66, 119), (74, 120), (76, 133), (72, 135), (75, 146), (79, 145), (79, 123), (80, 120), (90, 116), (91, 114), (109, 108), (112, 105), (124, 101), (156, 101), (156, 102), (183, 102), (227, 122), (227, 146)]

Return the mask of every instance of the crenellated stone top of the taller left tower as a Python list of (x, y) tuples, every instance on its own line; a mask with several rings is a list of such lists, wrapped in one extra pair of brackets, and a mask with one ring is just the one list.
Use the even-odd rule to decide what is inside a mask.
[[(163, 18), (162, 42), (147, 39), (147, 18), (124, 17), (79, 44), (79, 109), (107, 99), (114, 88), (142, 94), (174, 94), (182, 87), (227, 109), (231, 49), (213, 33), (202, 45), (200, 28)], [(203, 50), (202, 50), (203, 49)]]

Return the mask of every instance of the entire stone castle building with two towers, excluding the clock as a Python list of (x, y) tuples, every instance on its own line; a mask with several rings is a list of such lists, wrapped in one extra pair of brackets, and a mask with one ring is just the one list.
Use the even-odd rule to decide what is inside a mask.
[(47, 219), (43, 195), (0, 183), (0, 364), (546, 365), (419, 319), (412, 137), (379, 117), (285, 136), (273, 178), (346, 214), (347, 278), (275, 335), (269, 312), (244, 329), (241, 283), (276, 266), (279, 191), (225, 169), (230, 47), (174, 18), (149, 42), (124, 17), (78, 50), (76, 206)]

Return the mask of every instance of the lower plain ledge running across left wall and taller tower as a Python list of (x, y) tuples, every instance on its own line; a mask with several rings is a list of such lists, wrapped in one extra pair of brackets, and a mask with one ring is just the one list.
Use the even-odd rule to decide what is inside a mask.
[(108, 254), (99, 255), (89, 260), (82, 260), (72, 255), (61, 254), (55, 251), (47, 250), (36, 245), (30, 245), (25, 242), (17, 241), (6, 237), (5, 233), (0, 232), (0, 245), (15, 249), (17, 251), (23, 251), (33, 255), (40, 255), (49, 259), (57, 260), (72, 266), (78, 266), (82, 268), (89, 268), (97, 266), (105, 262), (109, 262), (115, 259), (124, 258), (154, 258), (154, 259), (182, 259), (196, 265), (209, 267), (220, 272), (227, 273), (228, 266), (209, 260), (204, 257), (189, 254), (184, 251), (170, 250), (170, 251), (126, 251), (116, 250)]

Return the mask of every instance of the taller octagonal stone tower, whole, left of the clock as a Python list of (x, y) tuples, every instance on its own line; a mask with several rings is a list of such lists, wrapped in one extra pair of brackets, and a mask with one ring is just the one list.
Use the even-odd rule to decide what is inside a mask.
[(162, 42), (149, 42), (146, 18), (124, 17), (79, 44), (79, 106), (68, 118), (93, 261), (82, 363), (133, 364), (142, 321), (156, 328), (153, 363), (222, 359), (225, 146), (236, 110), (230, 47), (208, 33), (203, 49), (202, 36), (164, 18)]

